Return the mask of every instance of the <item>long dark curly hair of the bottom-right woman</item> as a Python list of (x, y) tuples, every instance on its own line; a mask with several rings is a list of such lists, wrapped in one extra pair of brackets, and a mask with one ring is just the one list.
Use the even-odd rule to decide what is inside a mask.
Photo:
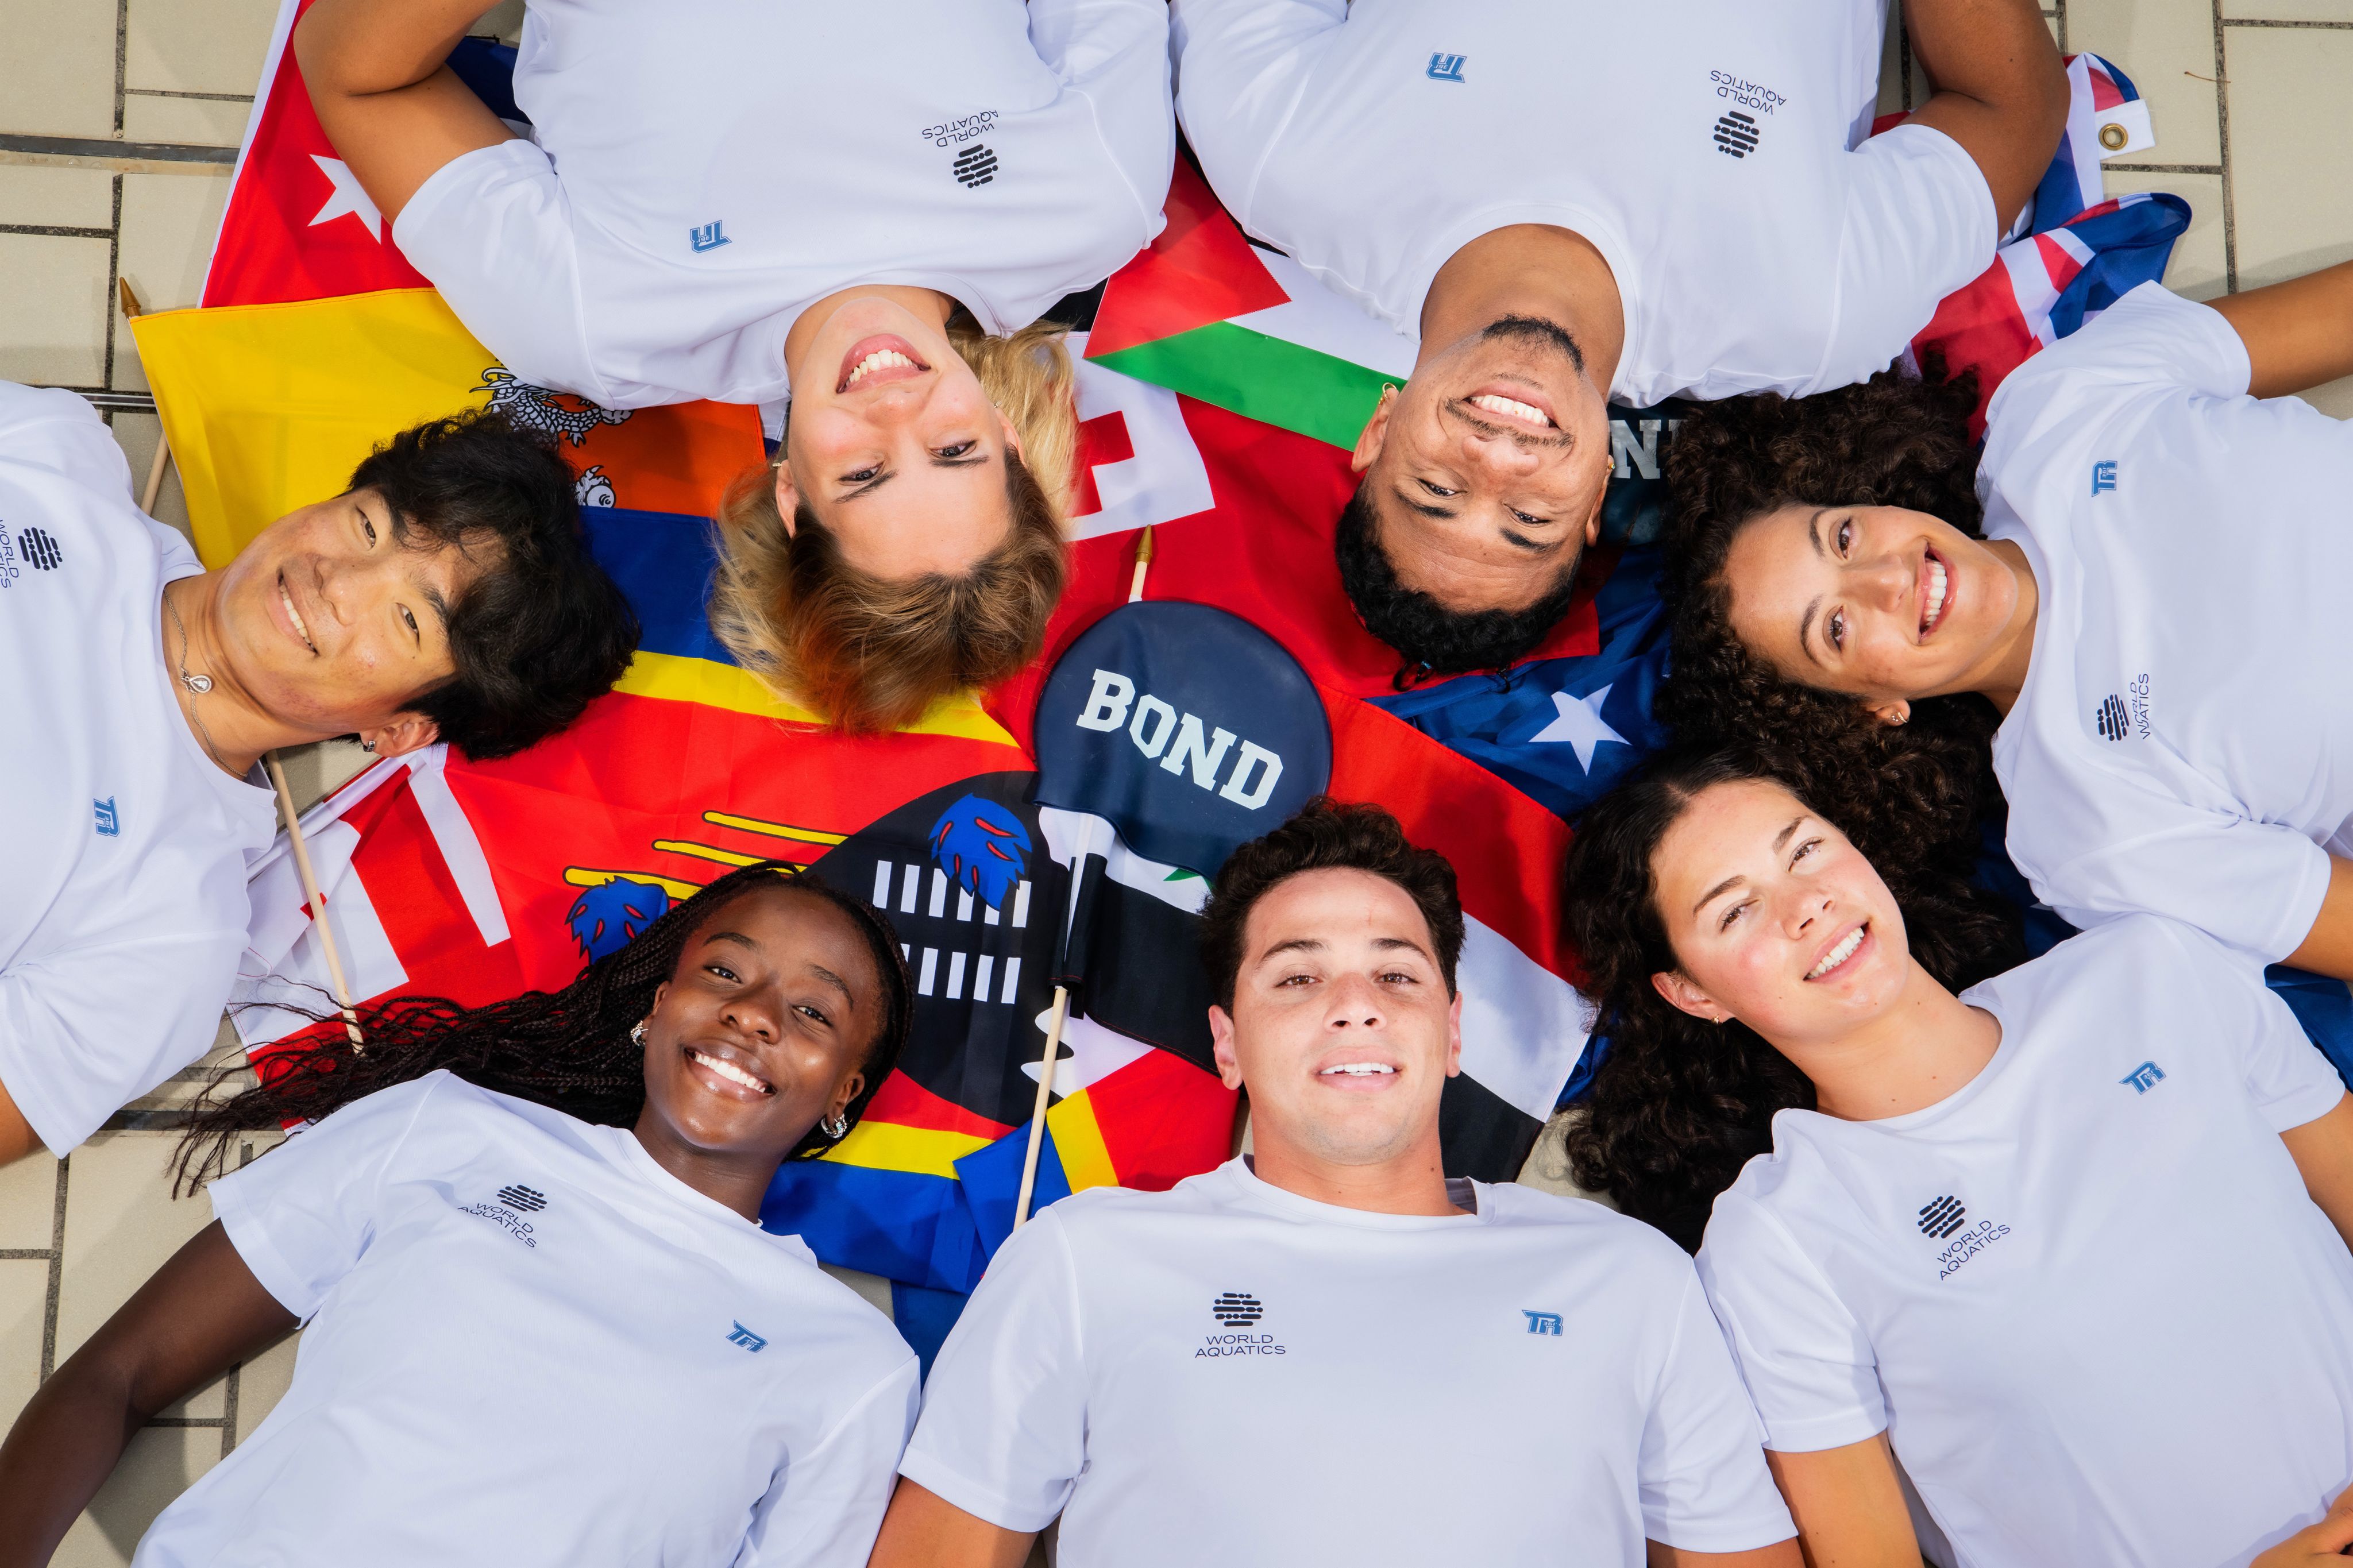
[[(1779, 783), (1847, 827), (1845, 792), (1807, 795), (1784, 755), (1678, 748), (1586, 813), (1567, 860), (1569, 933), (1586, 961), (1593, 1032), (1609, 1041), (1586, 1117), (1567, 1131), (1569, 1168), (1687, 1251), (1699, 1251), (1715, 1194), (1772, 1150), (1774, 1112), (1814, 1107), (1814, 1084), (1748, 1025), (1692, 1018), (1652, 987), (1654, 973), (1678, 969), (1652, 853), (1692, 799), (1741, 780)], [(1962, 990), (2019, 964), (2019, 910), (1941, 867), (1937, 846), (1918, 849), (1871, 863), (1897, 898), (1920, 966)]]

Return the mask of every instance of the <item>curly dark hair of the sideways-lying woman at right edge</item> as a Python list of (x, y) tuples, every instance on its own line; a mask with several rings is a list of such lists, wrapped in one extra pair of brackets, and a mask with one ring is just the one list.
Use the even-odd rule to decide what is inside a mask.
[(1732, 630), (1725, 557), (1753, 520), (1781, 505), (1901, 505), (1979, 538), (1969, 414), (1977, 371), (1885, 369), (1871, 381), (1781, 397), (1701, 404), (1675, 435), (1661, 592), (1673, 668), (1657, 715), (1687, 741), (1769, 738), (1798, 795), (1838, 799), (1854, 844), (1878, 860), (1922, 839), (1974, 858), (1977, 823), (2000, 809), (1993, 729), (1974, 693), (1922, 698), (1885, 724), (1852, 696), (1781, 679)]

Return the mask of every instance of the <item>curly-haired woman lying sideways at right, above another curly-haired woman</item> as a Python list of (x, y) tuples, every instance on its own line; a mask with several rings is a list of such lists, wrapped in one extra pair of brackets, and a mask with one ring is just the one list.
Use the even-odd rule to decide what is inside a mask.
[(1800, 748), (1873, 835), (1941, 832), (1991, 755), (2068, 922), (2353, 978), (2353, 425), (2278, 395), (2348, 371), (2353, 263), (2212, 308), (2134, 289), (2012, 371), (1981, 461), (1934, 369), (1701, 409), (1664, 708)]

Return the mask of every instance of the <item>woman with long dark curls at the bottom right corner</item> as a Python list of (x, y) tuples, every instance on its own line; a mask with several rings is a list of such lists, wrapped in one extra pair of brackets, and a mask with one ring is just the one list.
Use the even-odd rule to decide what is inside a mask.
[(1612, 1041), (1572, 1161), (1704, 1220), (1807, 1561), (1918, 1563), (1899, 1465), (1967, 1563), (2353, 1542), (2334, 1070), (2200, 931), (1986, 980), (2002, 917), (1889, 870), (1762, 755), (1668, 755), (1569, 849)]

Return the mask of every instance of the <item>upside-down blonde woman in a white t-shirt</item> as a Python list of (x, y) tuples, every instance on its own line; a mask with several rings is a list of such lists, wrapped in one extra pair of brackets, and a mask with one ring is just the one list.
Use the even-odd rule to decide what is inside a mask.
[(713, 607), (779, 693), (892, 729), (1019, 670), (1078, 435), (1038, 322), (1160, 233), (1165, 0), (529, 0), (527, 127), (442, 63), (485, 9), (318, 0), (294, 28), (402, 254), (534, 386), (791, 400)]

